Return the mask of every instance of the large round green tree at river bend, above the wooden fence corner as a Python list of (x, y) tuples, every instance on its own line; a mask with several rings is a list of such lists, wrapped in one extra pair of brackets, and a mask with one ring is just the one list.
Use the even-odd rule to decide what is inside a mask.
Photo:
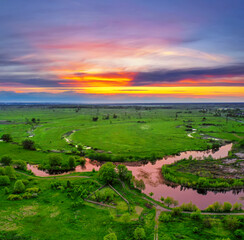
[(112, 183), (117, 177), (115, 172), (115, 165), (111, 162), (107, 162), (101, 166), (98, 171), (98, 177), (100, 180), (106, 183)]

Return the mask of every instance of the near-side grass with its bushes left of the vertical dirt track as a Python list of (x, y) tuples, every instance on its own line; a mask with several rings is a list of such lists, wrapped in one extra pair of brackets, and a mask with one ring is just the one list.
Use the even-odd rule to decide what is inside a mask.
[[(75, 239), (103, 240), (110, 239), (105, 236), (117, 235), (118, 240), (133, 240), (138, 227), (144, 229), (145, 240), (153, 238), (154, 210), (147, 209), (144, 200), (126, 189), (123, 191), (131, 203), (130, 213), (118, 195), (114, 199), (117, 209), (102, 208), (84, 200), (101, 186), (97, 173), (90, 173), (90, 178), (75, 175), (56, 179), (14, 173), (17, 180), (10, 181), (7, 191), (0, 186), (0, 239), (65, 240), (75, 236)], [(19, 185), (24, 192), (14, 193)], [(121, 185), (115, 187), (122, 191)], [(104, 190), (100, 196), (111, 195), (108, 189)], [(139, 215), (135, 206), (143, 210)], [(128, 221), (123, 221), (118, 213), (128, 214)]]

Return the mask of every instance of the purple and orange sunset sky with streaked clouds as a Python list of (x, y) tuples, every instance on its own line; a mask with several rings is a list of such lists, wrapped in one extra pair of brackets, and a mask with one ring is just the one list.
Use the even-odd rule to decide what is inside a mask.
[(1, 0), (4, 101), (244, 102), (244, 1)]

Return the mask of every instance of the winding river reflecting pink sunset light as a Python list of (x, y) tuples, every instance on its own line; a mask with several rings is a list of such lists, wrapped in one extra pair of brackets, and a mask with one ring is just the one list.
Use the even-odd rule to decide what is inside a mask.
[[(161, 196), (170, 196), (178, 200), (179, 205), (192, 201), (192, 203), (196, 204), (200, 209), (206, 208), (215, 201), (221, 203), (227, 201), (231, 204), (239, 202), (244, 205), (243, 190), (231, 190), (226, 192), (207, 191), (205, 193), (201, 193), (191, 188), (186, 189), (182, 188), (181, 186), (173, 187), (166, 185), (161, 174), (161, 168), (164, 164), (171, 164), (183, 158), (188, 158), (189, 156), (199, 160), (209, 155), (212, 155), (212, 157), (215, 159), (224, 158), (228, 156), (228, 152), (231, 150), (231, 148), (232, 144), (227, 144), (220, 147), (218, 151), (187, 151), (182, 152), (179, 155), (165, 157), (161, 160), (157, 160), (155, 163), (148, 162), (144, 164), (142, 162), (125, 162), (123, 164), (125, 164), (128, 169), (132, 171), (132, 174), (137, 179), (143, 179), (145, 183), (145, 190), (143, 190), (143, 192), (147, 195), (152, 192), (152, 198), (155, 200), (160, 200)], [(87, 159), (86, 165), (84, 167), (76, 167), (75, 172), (88, 172), (92, 171), (92, 169), (99, 170), (101, 165), (102, 164), (99, 162)], [(45, 171), (38, 170), (37, 166), (35, 165), (28, 165), (28, 169), (32, 170), (36, 176), (50, 176)], [(67, 173), (63, 173), (62, 175), (64, 174)]]

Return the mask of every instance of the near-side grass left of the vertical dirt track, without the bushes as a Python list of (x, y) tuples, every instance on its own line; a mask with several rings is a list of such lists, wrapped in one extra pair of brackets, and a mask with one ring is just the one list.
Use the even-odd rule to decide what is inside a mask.
[[(18, 179), (30, 179), (24, 175), (17, 175)], [(93, 174), (92, 179), (96, 179)], [(65, 177), (55, 181), (66, 185), (67, 181), (73, 184), (84, 185), (86, 178)], [(50, 188), (53, 178), (34, 178), (27, 181), (28, 187), (39, 187), (41, 192), (37, 198), (9, 201), (0, 186), (0, 239), (98, 239), (102, 240), (109, 232), (115, 232), (118, 239), (133, 239), (136, 227), (144, 227), (147, 238), (153, 238), (154, 210), (147, 209), (144, 202), (135, 199), (128, 193), (132, 212), (128, 222), (121, 220), (120, 214), (128, 213), (128, 209), (119, 207), (119, 211), (94, 204), (85, 203), (73, 208), (73, 200), (67, 197), (67, 192)], [(10, 193), (13, 191), (14, 181), (11, 181)], [(115, 185), (116, 186), (116, 185)], [(120, 186), (116, 188), (121, 191)], [(138, 215), (136, 208), (142, 209)], [(140, 215), (144, 220), (139, 219)]]

